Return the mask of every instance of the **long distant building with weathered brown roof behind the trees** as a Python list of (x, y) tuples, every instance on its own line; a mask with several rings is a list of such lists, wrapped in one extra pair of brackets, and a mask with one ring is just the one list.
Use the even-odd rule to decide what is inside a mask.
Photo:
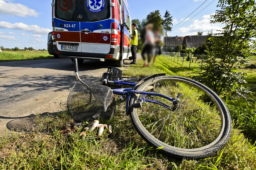
[[(166, 49), (171, 46), (173, 49), (175, 49), (176, 46), (178, 45), (186, 45), (188, 48), (195, 47), (197, 48), (198, 46), (202, 45), (207, 38), (206, 35), (188, 35), (185, 37), (167, 37), (167, 44), (166, 44)], [(164, 43), (166, 37), (164, 37)], [(165, 50), (165, 45), (164, 45), (164, 50)]]

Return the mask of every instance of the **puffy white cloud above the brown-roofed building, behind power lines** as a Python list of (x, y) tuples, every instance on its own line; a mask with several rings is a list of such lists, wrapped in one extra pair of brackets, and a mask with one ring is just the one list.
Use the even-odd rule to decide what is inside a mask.
[(211, 15), (204, 15), (202, 17), (202, 20), (196, 19), (193, 21), (193, 24), (189, 25), (188, 27), (181, 27), (179, 28), (179, 31), (182, 32), (182, 36), (186, 35), (197, 35), (197, 32), (203, 32), (203, 35), (206, 35), (208, 31), (211, 31), (213, 33), (217, 33), (216, 30), (221, 30), (222, 27), (220, 27), (221, 24), (215, 23), (211, 24)]

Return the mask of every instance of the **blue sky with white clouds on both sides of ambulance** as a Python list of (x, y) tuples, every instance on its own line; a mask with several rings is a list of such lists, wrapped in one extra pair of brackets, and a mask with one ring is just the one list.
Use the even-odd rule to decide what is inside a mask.
[[(48, 32), (52, 31), (51, 3), (52, 0), (0, 0), (0, 46), (47, 49)], [(140, 21), (155, 10), (164, 17), (168, 10), (173, 20), (168, 36), (196, 35), (198, 31), (206, 35), (222, 28), (218, 23), (210, 24), (211, 15), (218, 10), (218, 0), (127, 0), (127, 3), (131, 18)]]

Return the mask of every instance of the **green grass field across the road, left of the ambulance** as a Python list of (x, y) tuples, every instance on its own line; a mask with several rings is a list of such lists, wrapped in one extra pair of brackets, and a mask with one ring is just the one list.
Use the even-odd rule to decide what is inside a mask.
[(0, 52), (0, 62), (53, 59), (47, 51), (4, 51)]

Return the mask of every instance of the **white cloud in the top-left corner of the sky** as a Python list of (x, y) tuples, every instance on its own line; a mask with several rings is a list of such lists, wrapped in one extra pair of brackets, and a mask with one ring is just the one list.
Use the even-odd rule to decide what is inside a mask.
[(14, 4), (11, 2), (4, 2), (0, 0), (0, 14), (3, 15), (16, 15), (19, 17), (38, 17), (38, 13), (23, 4)]

